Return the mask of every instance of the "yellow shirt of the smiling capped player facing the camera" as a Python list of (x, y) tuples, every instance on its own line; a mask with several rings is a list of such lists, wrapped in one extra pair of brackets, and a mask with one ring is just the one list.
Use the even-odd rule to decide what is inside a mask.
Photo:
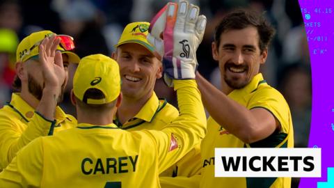
[[(122, 124), (116, 118), (114, 123), (118, 127), (127, 131), (136, 130), (162, 130), (168, 123), (179, 116), (179, 111), (166, 100), (159, 100), (153, 92), (152, 96), (144, 104), (140, 111), (126, 123)], [(200, 144), (196, 145), (186, 156), (180, 159), (179, 162), (170, 166), (169, 169), (162, 172), (160, 176), (175, 177), (175, 176), (192, 176), (199, 174), (200, 165)], [(173, 181), (172, 179), (171, 181)], [(167, 183), (169, 183), (168, 181)], [(161, 185), (161, 187), (165, 187)]]

